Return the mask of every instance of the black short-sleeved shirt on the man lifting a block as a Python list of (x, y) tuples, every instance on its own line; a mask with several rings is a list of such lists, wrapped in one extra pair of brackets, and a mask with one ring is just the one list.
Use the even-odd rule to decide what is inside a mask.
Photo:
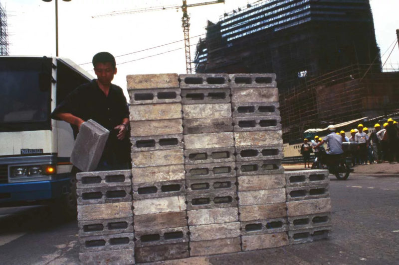
[[(115, 126), (122, 123), (124, 118), (129, 118), (129, 108), (122, 88), (111, 85), (108, 96), (98, 87), (96, 80), (83, 84), (73, 90), (64, 101), (56, 106), (51, 113), (51, 118), (59, 120), (58, 113), (71, 113), (84, 121), (92, 119), (110, 131), (104, 149), (104, 154), (112, 152), (120, 157), (129, 157), (130, 141), (126, 135), (123, 141), (118, 140)], [(71, 125), (76, 139), (78, 128)], [(121, 157), (122, 158), (122, 157)]]

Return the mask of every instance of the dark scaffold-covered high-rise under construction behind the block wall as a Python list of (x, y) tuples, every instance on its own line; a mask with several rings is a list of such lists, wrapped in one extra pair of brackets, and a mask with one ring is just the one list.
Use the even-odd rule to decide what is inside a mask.
[(399, 76), (381, 72), (369, 0), (248, 4), (208, 22), (195, 63), (197, 73), (276, 73), (285, 142), (398, 102)]

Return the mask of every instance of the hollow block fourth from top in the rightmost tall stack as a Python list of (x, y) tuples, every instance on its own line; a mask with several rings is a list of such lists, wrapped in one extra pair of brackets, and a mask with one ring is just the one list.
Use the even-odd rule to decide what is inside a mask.
[(280, 116), (233, 118), (234, 132), (281, 130)]

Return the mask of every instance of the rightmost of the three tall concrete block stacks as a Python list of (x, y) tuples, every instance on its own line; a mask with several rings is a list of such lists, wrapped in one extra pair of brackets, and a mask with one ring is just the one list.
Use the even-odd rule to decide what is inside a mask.
[(243, 251), (288, 244), (275, 79), (274, 74), (230, 75)]

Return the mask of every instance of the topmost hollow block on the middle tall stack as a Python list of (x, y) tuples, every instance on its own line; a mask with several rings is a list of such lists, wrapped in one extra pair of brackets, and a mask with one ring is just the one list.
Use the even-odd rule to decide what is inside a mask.
[(179, 75), (180, 88), (228, 88), (227, 74), (184, 74)]

